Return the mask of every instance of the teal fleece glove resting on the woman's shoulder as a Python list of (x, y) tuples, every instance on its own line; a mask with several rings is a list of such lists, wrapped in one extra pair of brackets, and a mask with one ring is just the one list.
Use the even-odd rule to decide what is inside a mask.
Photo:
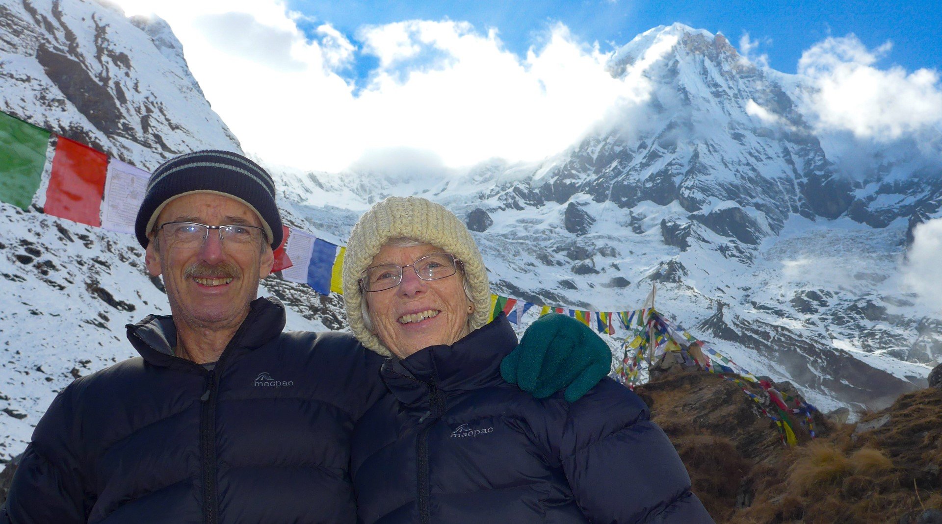
[(504, 380), (538, 399), (565, 388), (576, 402), (611, 370), (611, 350), (589, 326), (560, 313), (527, 328), (520, 345), (500, 362)]

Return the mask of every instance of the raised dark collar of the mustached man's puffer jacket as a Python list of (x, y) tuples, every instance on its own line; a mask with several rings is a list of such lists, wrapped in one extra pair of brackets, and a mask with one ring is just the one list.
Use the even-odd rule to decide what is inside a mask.
[[(226, 353), (251, 351), (278, 337), (284, 329), (284, 305), (278, 299), (256, 298), (249, 308), (249, 315), (226, 346)], [(148, 315), (137, 324), (128, 324), (125, 328), (128, 340), (148, 363), (160, 367), (192, 364), (173, 356), (176, 326), (171, 315)]]

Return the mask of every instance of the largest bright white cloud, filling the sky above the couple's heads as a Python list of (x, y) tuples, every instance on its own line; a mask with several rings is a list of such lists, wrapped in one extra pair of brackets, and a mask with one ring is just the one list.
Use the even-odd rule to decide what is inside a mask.
[[(120, 3), (126, 11), (152, 5)], [(358, 51), (330, 21), (305, 19), (279, 0), (153, 6), (243, 148), (295, 167), (375, 165), (375, 151), (427, 151), (447, 167), (538, 160), (576, 142), (613, 105), (650, 91), (640, 70), (612, 78), (609, 55), (561, 24), (526, 56), (508, 51), (494, 29), (447, 20), (362, 27)], [(320, 24), (313, 37), (301, 21)], [(379, 61), (362, 89), (342, 76), (358, 53)]]

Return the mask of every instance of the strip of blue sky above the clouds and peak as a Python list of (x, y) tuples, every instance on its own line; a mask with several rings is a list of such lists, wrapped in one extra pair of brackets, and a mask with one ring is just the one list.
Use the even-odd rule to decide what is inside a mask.
[[(868, 48), (893, 42), (881, 64), (908, 71), (942, 70), (942, 7), (938, 0), (903, 4), (876, 1), (808, 2), (640, 2), (632, 0), (523, 0), (514, 2), (381, 2), (375, 0), (289, 0), (288, 6), (327, 22), (356, 42), (365, 24), (411, 19), (466, 21), (485, 32), (495, 27), (507, 49), (523, 55), (539, 44), (550, 24), (561, 22), (585, 42), (601, 50), (624, 44), (657, 25), (680, 22), (712, 33), (722, 32), (739, 47), (743, 31), (767, 54), (772, 69), (795, 72), (805, 49), (829, 36), (853, 33)], [(314, 26), (316, 23), (312, 23)], [(358, 56), (354, 74), (363, 77), (375, 60)]]

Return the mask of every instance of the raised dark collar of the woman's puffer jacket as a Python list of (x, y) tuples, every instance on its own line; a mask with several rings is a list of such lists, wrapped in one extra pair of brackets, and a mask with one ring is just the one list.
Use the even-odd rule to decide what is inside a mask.
[(429, 405), (430, 389), (463, 391), (503, 384), (500, 361), (517, 346), (507, 315), (500, 313), (452, 345), (433, 345), (382, 366), (382, 379), (399, 402)]

